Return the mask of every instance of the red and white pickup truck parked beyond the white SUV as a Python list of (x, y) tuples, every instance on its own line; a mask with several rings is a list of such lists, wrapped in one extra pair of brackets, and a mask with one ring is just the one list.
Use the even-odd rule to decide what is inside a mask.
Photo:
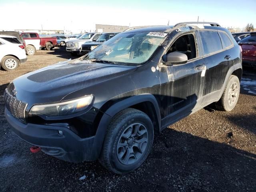
[(26, 54), (34, 55), (36, 50), (46, 48), (51, 50), (57, 45), (56, 37), (39, 37), (38, 33), (21, 33), (20, 36), (26, 42)]

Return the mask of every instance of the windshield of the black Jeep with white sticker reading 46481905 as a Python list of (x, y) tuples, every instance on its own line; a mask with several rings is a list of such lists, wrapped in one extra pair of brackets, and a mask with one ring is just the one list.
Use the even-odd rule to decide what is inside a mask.
[(138, 66), (146, 62), (164, 42), (167, 33), (120, 33), (104, 42), (84, 60), (99, 60), (118, 65)]

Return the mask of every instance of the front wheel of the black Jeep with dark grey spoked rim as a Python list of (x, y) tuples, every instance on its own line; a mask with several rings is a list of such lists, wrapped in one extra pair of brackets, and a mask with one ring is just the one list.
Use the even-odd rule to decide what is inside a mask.
[(108, 125), (100, 163), (114, 173), (129, 173), (146, 160), (153, 140), (154, 127), (144, 112), (122, 110)]

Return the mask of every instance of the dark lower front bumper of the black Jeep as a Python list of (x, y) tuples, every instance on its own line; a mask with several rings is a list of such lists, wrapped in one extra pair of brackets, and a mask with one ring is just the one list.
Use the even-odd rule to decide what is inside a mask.
[[(14, 118), (5, 108), (4, 114), (10, 128), (26, 142), (39, 146), (46, 154), (68, 162), (92, 161), (98, 158), (94, 136), (80, 138), (69, 128), (60, 124), (24, 124)], [(63, 135), (58, 134), (58, 130)]]

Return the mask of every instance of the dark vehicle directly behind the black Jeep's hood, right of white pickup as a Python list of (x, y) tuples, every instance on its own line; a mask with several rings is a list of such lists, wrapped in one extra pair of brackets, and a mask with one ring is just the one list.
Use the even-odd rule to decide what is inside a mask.
[(80, 54), (87, 54), (101, 45), (106, 40), (114, 37), (118, 33), (104, 33), (95, 42), (85, 42), (80, 48)]

